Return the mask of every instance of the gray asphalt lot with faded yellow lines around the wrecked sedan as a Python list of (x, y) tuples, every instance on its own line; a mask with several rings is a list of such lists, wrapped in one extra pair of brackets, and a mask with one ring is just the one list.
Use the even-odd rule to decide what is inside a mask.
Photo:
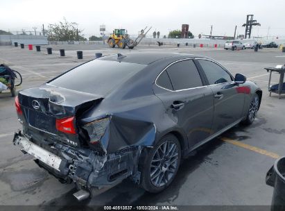
[[(184, 160), (173, 183), (164, 192), (149, 194), (130, 180), (94, 199), (78, 203), (74, 185), (62, 185), (40, 169), (31, 155), (24, 155), (12, 144), (13, 133), (21, 128), (15, 101), (9, 92), (0, 94), (0, 205), (270, 205), (273, 188), (265, 183), (268, 169), (285, 155), (285, 95), (269, 96), (268, 73), (264, 67), (284, 65), (279, 49), (226, 51), (213, 48), (138, 46), (110, 49), (103, 44), (54, 45), (53, 54), (16, 47), (0, 47), (0, 63), (21, 72), (19, 89), (35, 87), (64, 71), (94, 58), (95, 53), (110, 55), (139, 51), (169, 51), (209, 56), (232, 74), (241, 73), (263, 90), (261, 108), (254, 124), (235, 126), (202, 146)], [(60, 57), (59, 49), (65, 49)], [(76, 51), (83, 51), (83, 60)], [(278, 83), (273, 74), (273, 83)], [(230, 141), (227, 141), (230, 140)], [(55, 207), (55, 210), (60, 207)]]

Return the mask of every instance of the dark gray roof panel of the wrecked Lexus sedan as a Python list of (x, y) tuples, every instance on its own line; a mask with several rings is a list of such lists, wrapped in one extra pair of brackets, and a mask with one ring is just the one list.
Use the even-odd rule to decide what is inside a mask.
[(157, 60), (166, 58), (207, 58), (205, 56), (198, 56), (188, 53), (160, 53), (160, 52), (136, 52), (136, 53), (118, 53), (111, 56), (104, 56), (99, 60), (110, 60), (119, 62), (137, 63), (141, 65), (150, 65)]

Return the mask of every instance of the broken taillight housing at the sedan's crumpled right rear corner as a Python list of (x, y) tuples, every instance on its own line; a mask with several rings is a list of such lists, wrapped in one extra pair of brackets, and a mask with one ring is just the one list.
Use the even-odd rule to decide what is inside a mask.
[(109, 118), (99, 119), (96, 121), (92, 121), (89, 124), (85, 124), (83, 128), (87, 130), (87, 133), (90, 138), (90, 144), (96, 144), (101, 140), (101, 137), (105, 134), (105, 130), (110, 123)]

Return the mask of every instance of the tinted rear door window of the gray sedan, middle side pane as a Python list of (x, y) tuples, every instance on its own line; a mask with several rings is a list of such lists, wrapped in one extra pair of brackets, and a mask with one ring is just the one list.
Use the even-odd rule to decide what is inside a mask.
[(167, 68), (174, 90), (201, 87), (202, 81), (193, 60), (176, 62)]

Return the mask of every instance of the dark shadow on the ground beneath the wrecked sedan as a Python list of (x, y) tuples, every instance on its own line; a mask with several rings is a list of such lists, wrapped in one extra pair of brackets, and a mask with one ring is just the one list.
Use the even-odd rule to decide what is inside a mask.
[[(180, 169), (176, 175), (173, 183), (169, 185), (163, 192), (159, 194), (151, 194), (139, 188), (137, 185), (126, 179), (121, 184), (116, 185), (112, 189), (107, 190), (93, 199), (85, 201), (76, 201), (74, 192), (76, 189), (71, 189), (67, 194), (64, 194), (57, 199), (53, 199), (48, 203), (44, 203), (42, 208), (44, 210), (73, 210), (80, 206), (80, 210), (100, 210), (103, 205), (155, 205), (157, 203), (171, 203), (178, 198), (180, 188), (187, 182), (189, 174), (198, 169), (203, 162), (209, 162), (211, 155), (225, 142), (215, 138), (207, 144), (200, 146), (199, 149), (189, 155), (187, 159), (184, 159), (180, 164)], [(79, 208), (79, 207), (78, 207)]]

